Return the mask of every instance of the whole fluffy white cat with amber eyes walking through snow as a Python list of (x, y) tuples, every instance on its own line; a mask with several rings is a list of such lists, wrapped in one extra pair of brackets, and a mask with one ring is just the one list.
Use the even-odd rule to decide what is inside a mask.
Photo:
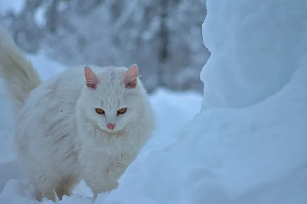
[(87, 66), (41, 82), (0, 29), (0, 75), (14, 106), (18, 159), (37, 199), (62, 199), (84, 179), (94, 196), (117, 180), (152, 136), (146, 91), (130, 68)]

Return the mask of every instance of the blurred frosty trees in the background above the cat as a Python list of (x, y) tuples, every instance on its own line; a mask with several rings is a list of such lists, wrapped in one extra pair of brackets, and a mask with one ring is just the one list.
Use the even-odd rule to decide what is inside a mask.
[(202, 91), (205, 15), (205, 0), (26, 0), (3, 19), (29, 53), (42, 49), (68, 66), (137, 63), (149, 91)]

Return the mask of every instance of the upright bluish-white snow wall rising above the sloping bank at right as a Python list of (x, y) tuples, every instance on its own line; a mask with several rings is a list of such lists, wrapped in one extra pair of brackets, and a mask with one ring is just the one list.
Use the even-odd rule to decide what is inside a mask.
[(246, 107), (278, 92), (307, 64), (304, 0), (207, 1), (203, 109)]

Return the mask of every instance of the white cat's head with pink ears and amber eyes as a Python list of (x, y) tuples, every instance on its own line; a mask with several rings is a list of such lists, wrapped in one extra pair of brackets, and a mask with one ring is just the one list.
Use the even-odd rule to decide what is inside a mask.
[(145, 89), (138, 80), (138, 67), (103, 68), (96, 73), (84, 67), (86, 86), (82, 92), (85, 121), (108, 132), (117, 132), (136, 121), (146, 109)]

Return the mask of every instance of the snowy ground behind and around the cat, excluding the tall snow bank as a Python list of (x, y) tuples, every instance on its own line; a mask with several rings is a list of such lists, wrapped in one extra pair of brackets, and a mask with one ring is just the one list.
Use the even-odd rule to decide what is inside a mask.
[[(29, 55), (29, 57), (43, 79), (64, 69), (61, 64), (46, 59), (43, 55)], [(196, 92), (174, 92), (162, 88), (153, 92), (150, 95), (150, 101), (156, 114), (156, 134), (141, 151), (134, 164), (143, 163), (148, 154), (161, 150), (175, 141), (181, 127), (200, 110), (201, 100), (202, 95)], [(24, 173), (20, 171), (15, 160), (12, 141), (13, 118), (9, 117), (9, 101), (3, 89), (0, 90), (0, 104), (2, 105), (0, 110), (0, 191), (5, 187), (0, 194), (0, 203), (37, 203), (31, 195), (31, 187), (26, 184)], [(76, 193), (92, 196), (84, 182), (77, 186)], [(93, 200), (89, 200), (91, 201)], [(46, 203), (48, 202), (50, 201)]]

